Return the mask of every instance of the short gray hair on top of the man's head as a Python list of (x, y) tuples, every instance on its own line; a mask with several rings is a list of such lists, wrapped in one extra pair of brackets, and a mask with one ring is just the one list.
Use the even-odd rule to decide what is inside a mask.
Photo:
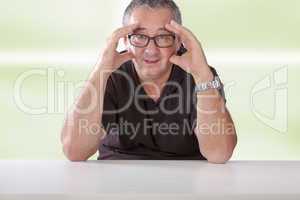
[(173, 0), (132, 0), (124, 11), (123, 25), (128, 24), (129, 18), (133, 10), (137, 7), (149, 7), (149, 8), (168, 8), (172, 11), (173, 19), (182, 24), (181, 12)]

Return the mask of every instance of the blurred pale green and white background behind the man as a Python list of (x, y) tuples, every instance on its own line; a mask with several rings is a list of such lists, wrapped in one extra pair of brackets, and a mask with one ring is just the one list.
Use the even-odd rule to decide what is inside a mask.
[[(176, 2), (225, 84), (239, 139), (232, 159), (298, 160), (300, 1)], [(0, 0), (0, 159), (65, 159), (64, 113), (127, 3)], [(32, 70), (43, 75), (25, 79), (17, 93)]]

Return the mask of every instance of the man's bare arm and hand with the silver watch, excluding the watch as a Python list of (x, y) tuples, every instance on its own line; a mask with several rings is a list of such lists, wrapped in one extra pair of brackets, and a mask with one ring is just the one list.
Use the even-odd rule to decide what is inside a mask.
[[(196, 84), (213, 80), (200, 42), (187, 28), (175, 21), (166, 25), (166, 29), (180, 37), (187, 52), (182, 56), (173, 55), (170, 62), (190, 73)], [(208, 98), (212, 96), (213, 98)], [(225, 107), (224, 99), (217, 90), (197, 94), (197, 125), (195, 133), (201, 153), (209, 162), (225, 163), (230, 159), (237, 137), (234, 124)], [(218, 130), (218, 127), (225, 127)], [(231, 127), (231, 129), (227, 129)]]

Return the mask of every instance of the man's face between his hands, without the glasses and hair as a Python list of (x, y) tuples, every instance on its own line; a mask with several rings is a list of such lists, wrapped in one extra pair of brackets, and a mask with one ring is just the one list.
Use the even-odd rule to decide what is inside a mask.
[[(172, 13), (167, 8), (150, 9), (140, 7), (134, 9), (129, 19), (129, 24), (138, 23), (139, 28), (135, 34), (154, 37), (157, 35), (172, 34), (165, 29), (165, 25), (172, 20)], [(151, 40), (146, 47), (135, 47), (126, 40), (127, 49), (133, 53), (133, 62), (140, 75), (147, 79), (157, 79), (169, 72), (172, 64), (169, 58), (176, 53), (179, 42), (175, 39), (172, 46), (159, 48)]]

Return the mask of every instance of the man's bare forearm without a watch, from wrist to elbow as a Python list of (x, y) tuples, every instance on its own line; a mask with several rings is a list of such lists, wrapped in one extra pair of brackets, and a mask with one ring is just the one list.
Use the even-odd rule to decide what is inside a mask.
[(87, 160), (98, 148), (104, 130), (101, 118), (106, 83), (109, 74), (98, 67), (86, 82), (81, 95), (67, 115), (62, 143), (70, 160)]

